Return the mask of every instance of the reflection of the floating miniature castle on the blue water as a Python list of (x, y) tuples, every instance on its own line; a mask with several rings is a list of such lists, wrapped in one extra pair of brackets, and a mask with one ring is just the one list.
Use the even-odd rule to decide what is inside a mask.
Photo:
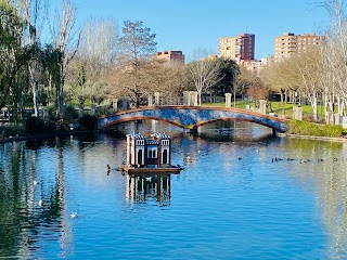
[(155, 198), (160, 206), (170, 204), (171, 176), (156, 174), (127, 174), (127, 199), (133, 203), (145, 203)]

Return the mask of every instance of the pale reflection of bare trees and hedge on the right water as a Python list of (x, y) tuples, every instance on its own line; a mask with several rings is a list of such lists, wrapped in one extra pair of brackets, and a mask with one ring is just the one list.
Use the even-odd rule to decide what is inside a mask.
[(330, 236), (331, 259), (347, 258), (347, 154), (340, 142), (312, 141), (310, 139), (283, 139), (290, 156), (311, 159), (297, 165), (291, 174), (301, 182), (312, 182), (320, 219)]

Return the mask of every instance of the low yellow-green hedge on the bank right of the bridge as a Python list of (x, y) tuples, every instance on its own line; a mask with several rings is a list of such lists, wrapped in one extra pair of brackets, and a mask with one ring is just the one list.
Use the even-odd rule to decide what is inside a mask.
[(288, 123), (288, 133), (313, 135), (313, 136), (327, 136), (327, 138), (342, 138), (342, 126), (332, 125), (317, 125), (300, 120), (291, 120)]

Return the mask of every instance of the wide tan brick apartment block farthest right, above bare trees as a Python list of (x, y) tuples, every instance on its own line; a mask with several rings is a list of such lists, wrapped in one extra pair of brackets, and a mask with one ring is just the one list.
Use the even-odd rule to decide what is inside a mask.
[(294, 54), (300, 54), (310, 47), (321, 44), (324, 41), (324, 36), (284, 32), (282, 36), (274, 37), (274, 62), (283, 61)]

